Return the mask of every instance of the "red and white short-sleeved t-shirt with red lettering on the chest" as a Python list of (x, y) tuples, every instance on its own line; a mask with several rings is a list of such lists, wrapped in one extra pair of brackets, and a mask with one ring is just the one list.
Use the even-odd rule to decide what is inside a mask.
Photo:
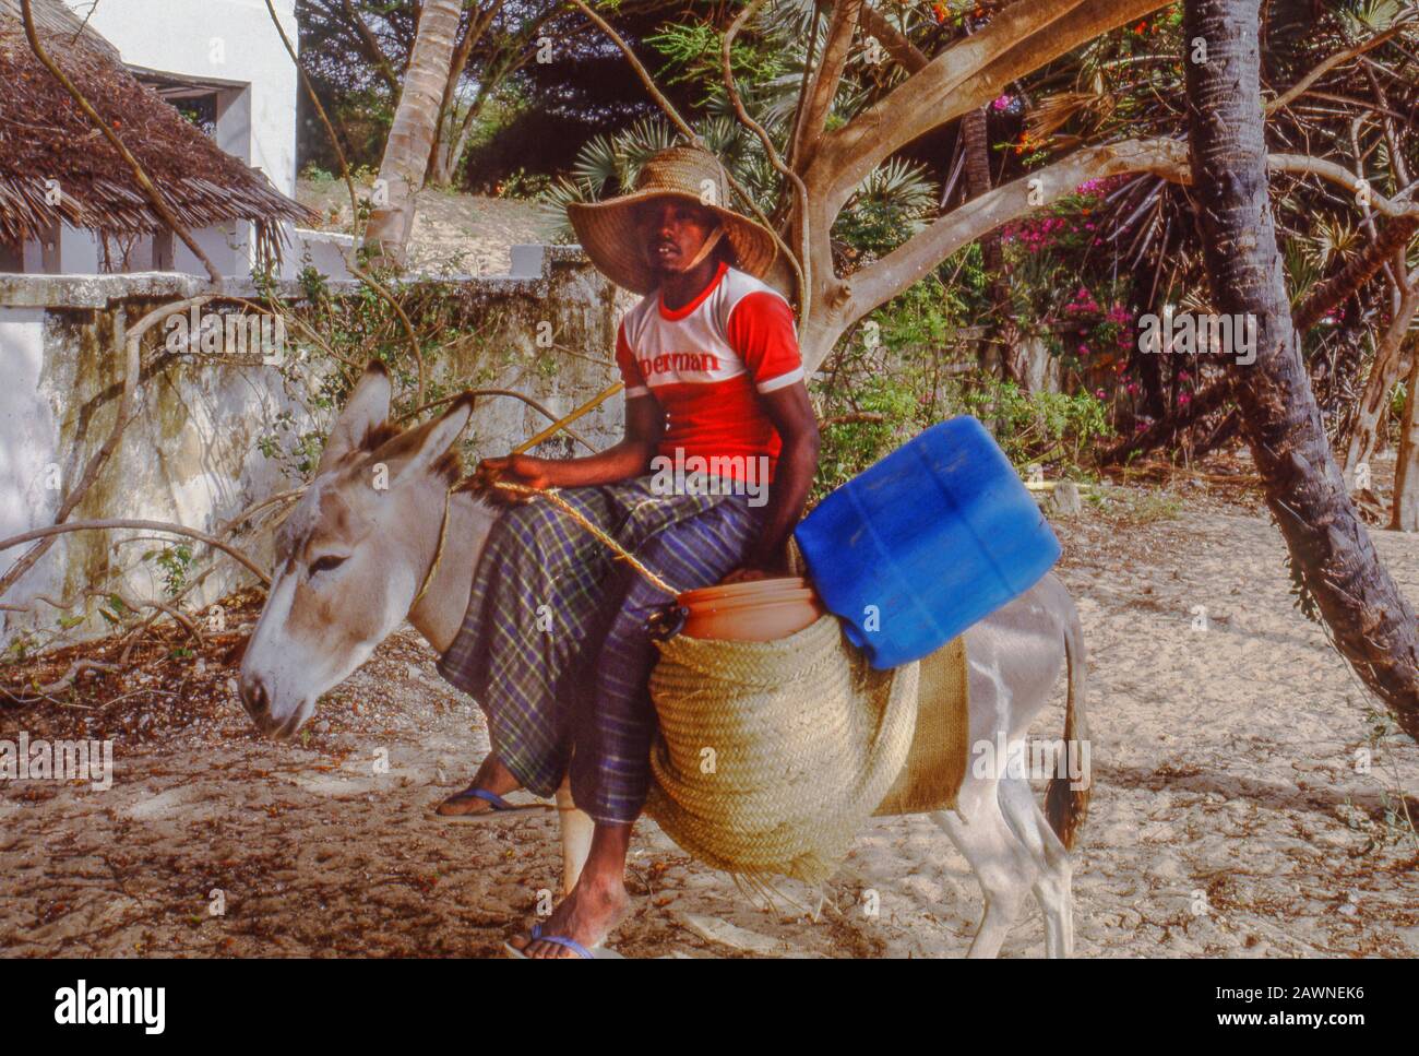
[[(616, 334), (626, 399), (654, 396), (666, 412), (657, 454), (732, 458), (727, 475), (766, 456), (769, 480), (782, 440), (758, 393), (803, 379), (793, 309), (782, 294), (719, 261), (710, 285), (670, 311), (660, 291), (626, 312)], [(738, 458), (735, 456), (742, 456)]]

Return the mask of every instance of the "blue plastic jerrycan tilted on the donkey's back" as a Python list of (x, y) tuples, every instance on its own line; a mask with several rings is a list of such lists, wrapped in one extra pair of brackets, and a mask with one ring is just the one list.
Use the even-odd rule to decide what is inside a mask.
[(1005, 451), (969, 414), (847, 481), (795, 538), (823, 603), (876, 669), (944, 646), (1034, 586), (1060, 556)]

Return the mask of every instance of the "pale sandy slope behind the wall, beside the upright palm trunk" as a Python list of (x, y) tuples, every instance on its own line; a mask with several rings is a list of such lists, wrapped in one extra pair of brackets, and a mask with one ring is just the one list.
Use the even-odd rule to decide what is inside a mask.
[[(368, 185), (356, 193), (369, 196)], [(324, 217), (324, 230), (349, 233), (345, 180), (299, 180), (297, 199)], [(427, 187), (414, 209), (410, 267), (429, 274), (499, 275), (512, 267), (511, 246), (545, 241), (536, 203)]]

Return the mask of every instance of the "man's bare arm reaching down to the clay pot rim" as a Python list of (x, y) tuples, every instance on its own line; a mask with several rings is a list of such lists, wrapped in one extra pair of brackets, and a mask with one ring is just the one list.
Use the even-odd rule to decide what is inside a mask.
[(759, 393), (759, 402), (783, 441), (763, 518), (763, 531), (725, 583), (762, 579), (788, 571), (788, 541), (807, 504), (817, 473), (817, 417), (803, 382)]

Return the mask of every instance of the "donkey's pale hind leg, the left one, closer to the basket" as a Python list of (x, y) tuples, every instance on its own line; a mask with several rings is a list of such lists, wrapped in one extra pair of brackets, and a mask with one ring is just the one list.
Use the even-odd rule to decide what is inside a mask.
[(954, 810), (931, 815), (971, 864), (985, 897), (985, 914), (966, 957), (1000, 952), (1039, 871), (1034, 857), (1010, 830), (996, 796), (998, 785), (993, 778), (968, 776), (956, 796), (959, 816)]

